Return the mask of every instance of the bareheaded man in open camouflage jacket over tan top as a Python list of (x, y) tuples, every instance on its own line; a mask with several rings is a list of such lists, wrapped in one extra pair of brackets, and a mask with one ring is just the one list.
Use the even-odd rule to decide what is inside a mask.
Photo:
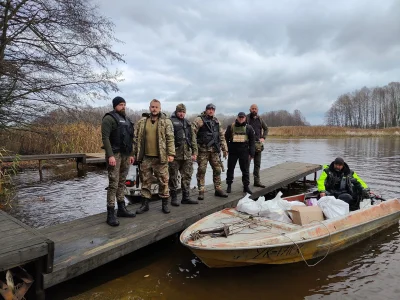
[(135, 126), (133, 153), (140, 164), (142, 180), (142, 206), (136, 211), (142, 214), (149, 210), (151, 198), (151, 178), (158, 180), (158, 195), (162, 200), (162, 211), (168, 208), (168, 162), (175, 156), (174, 132), (171, 120), (161, 113), (161, 103), (157, 99), (150, 102), (150, 113), (144, 113)]

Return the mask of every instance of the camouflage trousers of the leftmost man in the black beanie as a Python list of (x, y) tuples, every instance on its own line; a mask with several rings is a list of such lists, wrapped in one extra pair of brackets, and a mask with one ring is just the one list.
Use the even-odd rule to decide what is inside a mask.
[(117, 202), (124, 201), (125, 180), (129, 171), (129, 155), (116, 153), (114, 157), (115, 166), (110, 166), (108, 157), (106, 157), (108, 171), (107, 206), (110, 207), (114, 207), (115, 198), (117, 198)]

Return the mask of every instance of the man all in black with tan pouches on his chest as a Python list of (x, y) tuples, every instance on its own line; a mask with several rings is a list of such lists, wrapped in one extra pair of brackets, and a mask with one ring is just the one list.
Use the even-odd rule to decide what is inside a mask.
[(246, 114), (240, 112), (235, 123), (229, 125), (225, 131), (225, 140), (228, 144), (228, 171), (226, 172), (227, 193), (232, 191), (236, 162), (239, 160), (242, 171), (243, 192), (252, 194), (250, 184), (250, 160), (255, 154), (255, 134), (251, 125), (246, 122)]

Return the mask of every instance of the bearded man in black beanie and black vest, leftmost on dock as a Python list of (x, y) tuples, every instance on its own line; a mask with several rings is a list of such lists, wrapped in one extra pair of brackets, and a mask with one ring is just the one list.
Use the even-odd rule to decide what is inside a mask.
[(101, 123), (103, 148), (106, 152), (108, 170), (107, 189), (107, 224), (118, 226), (115, 218), (115, 199), (118, 204), (118, 217), (132, 218), (135, 213), (129, 212), (125, 206), (125, 180), (129, 165), (133, 164), (133, 123), (125, 115), (126, 102), (122, 97), (112, 101), (113, 111), (106, 113)]

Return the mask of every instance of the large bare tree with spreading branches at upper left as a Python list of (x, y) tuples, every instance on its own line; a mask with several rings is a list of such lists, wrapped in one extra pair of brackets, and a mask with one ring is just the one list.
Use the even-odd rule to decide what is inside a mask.
[(113, 24), (85, 0), (0, 0), (0, 128), (117, 91)]

